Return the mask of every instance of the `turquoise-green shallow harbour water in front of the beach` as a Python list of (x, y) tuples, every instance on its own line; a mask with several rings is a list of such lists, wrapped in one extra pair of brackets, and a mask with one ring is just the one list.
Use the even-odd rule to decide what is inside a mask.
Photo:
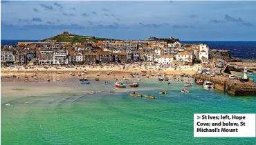
[[(192, 80), (191, 80), (192, 82)], [(74, 84), (75, 85), (75, 84)], [(183, 83), (146, 80), (140, 88), (75, 86), (1, 106), (1, 144), (255, 144), (256, 138), (194, 138), (194, 113), (255, 113), (256, 97), (233, 97)], [(95, 86), (100, 89), (95, 89)], [(156, 87), (157, 86), (157, 87)], [(167, 90), (167, 95), (158, 91)], [(93, 90), (94, 89), (94, 90)], [(85, 95), (83, 90), (102, 91)], [(124, 92), (122, 92), (124, 90)], [(130, 97), (148, 94), (157, 99)], [(77, 92), (78, 95), (74, 95)]]

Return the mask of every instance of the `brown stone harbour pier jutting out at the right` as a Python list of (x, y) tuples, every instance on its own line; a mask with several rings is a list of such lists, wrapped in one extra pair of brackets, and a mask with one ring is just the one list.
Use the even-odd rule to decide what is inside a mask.
[[(239, 76), (237, 76), (239, 79)], [(256, 95), (256, 84), (254, 83), (253, 79), (249, 79), (248, 82), (243, 83), (238, 81), (237, 79), (228, 79), (228, 75), (221, 75), (210, 77), (208, 75), (195, 75), (196, 80), (203, 80), (203, 81), (212, 81), (214, 83), (214, 88), (217, 90), (221, 90), (224, 93), (230, 93), (235, 96), (240, 95)]]

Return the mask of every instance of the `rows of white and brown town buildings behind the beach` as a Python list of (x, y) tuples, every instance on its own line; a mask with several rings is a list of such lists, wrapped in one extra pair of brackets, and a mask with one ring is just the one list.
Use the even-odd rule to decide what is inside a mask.
[[(63, 32), (63, 35), (68, 32)], [(156, 37), (140, 41), (85, 41), (71, 42), (19, 42), (17, 46), (1, 46), (1, 65), (91, 65), (154, 62), (167, 65), (207, 65), (218, 55), (210, 58), (209, 46), (181, 43), (174, 37), (171, 42)], [(212, 50), (214, 52), (216, 50)], [(228, 50), (226, 51), (229, 57)]]

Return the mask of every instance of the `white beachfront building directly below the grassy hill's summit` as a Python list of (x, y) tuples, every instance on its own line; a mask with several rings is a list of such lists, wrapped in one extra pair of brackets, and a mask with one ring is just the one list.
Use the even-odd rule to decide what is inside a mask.
[(68, 50), (55, 50), (53, 52), (53, 64), (68, 64)]

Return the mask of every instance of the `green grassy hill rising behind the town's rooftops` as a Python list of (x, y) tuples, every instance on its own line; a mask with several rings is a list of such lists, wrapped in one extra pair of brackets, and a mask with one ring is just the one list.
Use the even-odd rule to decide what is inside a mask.
[[(56, 35), (54, 37), (50, 37), (48, 39), (40, 40), (40, 42), (44, 41), (55, 41), (55, 42), (71, 42), (71, 43), (83, 43), (85, 41), (103, 41), (103, 40), (111, 40), (107, 38), (98, 38), (98, 37), (90, 37), (90, 36), (82, 36), (82, 35), (73, 35), (68, 32), (63, 32), (60, 35)], [(114, 40), (114, 39), (112, 39)]]

